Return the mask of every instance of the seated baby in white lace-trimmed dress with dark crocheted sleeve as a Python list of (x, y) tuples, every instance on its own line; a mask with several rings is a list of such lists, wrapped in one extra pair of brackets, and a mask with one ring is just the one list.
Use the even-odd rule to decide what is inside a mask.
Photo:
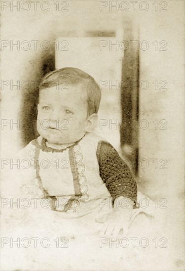
[(39, 85), (40, 136), (22, 151), (33, 162), (33, 196), (49, 199), (61, 217), (91, 216), (103, 223), (101, 235), (118, 236), (138, 208), (137, 185), (111, 144), (92, 132), (100, 100), (100, 88), (86, 72), (48, 73)]

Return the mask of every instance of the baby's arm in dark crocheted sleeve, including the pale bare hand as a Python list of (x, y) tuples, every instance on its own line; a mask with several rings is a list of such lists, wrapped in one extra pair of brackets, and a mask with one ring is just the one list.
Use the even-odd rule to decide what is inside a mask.
[(137, 184), (126, 163), (110, 143), (101, 141), (97, 149), (100, 176), (111, 194), (113, 212), (104, 223), (101, 235), (117, 236), (127, 232), (133, 207), (136, 206)]

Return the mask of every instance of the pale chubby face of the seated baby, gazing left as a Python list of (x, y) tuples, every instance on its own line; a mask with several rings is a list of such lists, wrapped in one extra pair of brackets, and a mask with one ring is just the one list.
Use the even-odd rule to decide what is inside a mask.
[(39, 93), (37, 131), (50, 143), (73, 143), (85, 135), (88, 123), (87, 101), (82, 85), (56, 86)]

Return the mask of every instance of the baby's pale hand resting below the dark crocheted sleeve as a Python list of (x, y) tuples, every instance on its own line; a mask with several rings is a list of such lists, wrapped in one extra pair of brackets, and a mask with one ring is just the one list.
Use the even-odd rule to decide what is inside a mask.
[(119, 211), (113, 211), (109, 216), (108, 219), (104, 222), (102, 229), (100, 231), (100, 236), (106, 235), (113, 237), (118, 237), (119, 232), (123, 231), (123, 236), (127, 236), (129, 227), (129, 220), (122, 216), (122, 213)]

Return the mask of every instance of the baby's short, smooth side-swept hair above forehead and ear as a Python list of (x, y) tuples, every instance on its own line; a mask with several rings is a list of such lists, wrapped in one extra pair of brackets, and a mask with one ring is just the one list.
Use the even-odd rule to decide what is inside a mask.
[(47, 73), (39, 84), (39, 91), (62, 84), (65, 80), (69, 84), (81, 83), (87, 94), (88, 116), (98, 113), (101, 101), (100, 87), (92, 76), (79, 68), (60, 68)]

